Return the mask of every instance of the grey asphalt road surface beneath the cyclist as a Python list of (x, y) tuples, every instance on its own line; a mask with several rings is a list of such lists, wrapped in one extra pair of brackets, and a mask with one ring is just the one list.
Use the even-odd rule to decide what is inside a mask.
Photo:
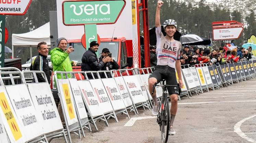
[[(129, 119), (118, 115), (119, 122), (110, 119), (109, 127), (97, 122), (99, 131), (91, 125), (94, 131), (86, 131), (85, 138), (72, 133), (72, 142), (161, 143), (159, 126), (151, 111), (138, 111), (138, 115), (131, 112), (130, 117), (148, 119), (124, 126)], [(174, 128), (176, 134), (169, 136), (168, 143), (256, 143), (256, 79), (181, 98)], [(60, 142), (64, 142), (63, 138), (51, 141)]]

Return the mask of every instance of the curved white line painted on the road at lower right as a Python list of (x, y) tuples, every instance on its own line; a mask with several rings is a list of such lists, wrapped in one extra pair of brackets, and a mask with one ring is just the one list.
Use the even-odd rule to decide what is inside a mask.
[(256, 115), (252, 115), (252, 116), (250, 116), (250, 117), (244, 118), (243, 120), (237, 122), (237, 123), (235, 124), (235, 126), (234, 126), (234, 132), (236, 132), (236, 133), (237, 133), (240, 137), (242, 137), (243, 139), (245, 139), (245, 140), (247, 140), (247, 141), (249, 141), (249, 142), (252, 142), (252, 143), (256, 143), (256, 140), (247, 137), (247, 136), (245, 135), (245, 133), (241, 131), (240, 127), (241, 127), (241, 125), (242, 125), (245, 121), (247, 121), (247, 120), (249, 120), (249, 119), (251, 119), (251, 118), (253, 118), (253, 117), (255, 117), (255, 116), (256, 116)]

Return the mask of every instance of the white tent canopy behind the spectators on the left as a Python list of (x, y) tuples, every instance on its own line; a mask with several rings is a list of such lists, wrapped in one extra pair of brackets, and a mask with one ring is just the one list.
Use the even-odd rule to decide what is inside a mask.
[[(42, 41), (46, 42), (47, 45), (51, 45), (49, 22), (27, 33), (12, 34), (12, 51), (14, 46), (37, 47), (37, 44)], [(12, 52), (12, 57), (14, 57), (13, 53), (14, 52)], [(32, 51), (31, 51), (31, 54), (32, 54)]]

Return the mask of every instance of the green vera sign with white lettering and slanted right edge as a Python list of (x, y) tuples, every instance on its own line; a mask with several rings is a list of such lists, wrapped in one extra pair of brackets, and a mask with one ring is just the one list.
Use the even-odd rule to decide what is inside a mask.
[(113, 24), (124, 9), (124, 0), (64, 1), (64, 25)]

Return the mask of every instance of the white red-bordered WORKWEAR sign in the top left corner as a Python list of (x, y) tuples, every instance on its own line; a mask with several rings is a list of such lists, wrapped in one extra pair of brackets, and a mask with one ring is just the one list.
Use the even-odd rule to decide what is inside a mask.
[(24, 15), (32, 0), (0, 0), (0, 15)]

